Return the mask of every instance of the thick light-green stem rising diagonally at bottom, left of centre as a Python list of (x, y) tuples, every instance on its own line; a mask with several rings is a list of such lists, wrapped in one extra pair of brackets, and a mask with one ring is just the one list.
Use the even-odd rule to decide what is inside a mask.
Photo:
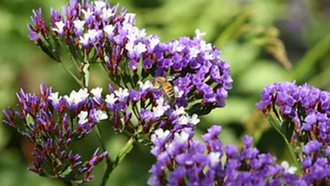
[(100, 186), (105, 186), (111, 172), (118, 166), (118, 164), (125, 158), (125, 156), (133, 149), (133, 145), (135, 143), (135, 140), (133, 137), (129, 138), (125, 146), (123, 146), (119, 153), (117, 154), (115, 161), (111, 162), (111, 164), (107, 164), (107, 170), (103, 175), (102, 183)]

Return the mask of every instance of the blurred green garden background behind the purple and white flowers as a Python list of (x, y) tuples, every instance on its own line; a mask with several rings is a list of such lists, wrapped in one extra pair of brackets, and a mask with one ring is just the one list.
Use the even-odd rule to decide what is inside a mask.
[[(44, 82), (61, 94), (78, 89), (74, 80), (46, 54), (29, 41), (26, 24), (32, 9), (59, 9), (64, 0), (0, 1), (0, 108), (16, 105), (19, 88), (39, 91)], [(194, 35), (196, 28), (205, 39), (222, 50), (233, 73), (233, 89), (227, 106), (202, 117), (198, 133), (214, 124), (223, 126), (225, 144), (241, 145), (248, 134), (262, 152), (290, 161), (284, 141), (270, 128), (255, 103), (266, 84), (296, 80), (330, 90), (330, 1), (328, 0), (117, 0), (128, 12), (136, 13), (137, 25), (161, 41)], [(102, 70), (92, 69), (90, 87), (107, 89), (109, 80)], [(0, 115), (4, 119), (4, 115)], [(127, 140), (114, 135), (109, 123), (102, 123), (109, 136), (107, 149), (114, 156)], [(78, 144), (79, 145), (79, 144)], [(97, 143), (80, 142), (83, 154), (90, 156)], [(108, 185), (146, 185), (148, 169), (155, 161), (147, 147), (136, 146), (113, 172)], [(16, 131), (0, 125), (0, 181), (11, 185), (64, 185), (29, 172), (32, 146)], [(98, 185), (104, 164), (93, 171)]]

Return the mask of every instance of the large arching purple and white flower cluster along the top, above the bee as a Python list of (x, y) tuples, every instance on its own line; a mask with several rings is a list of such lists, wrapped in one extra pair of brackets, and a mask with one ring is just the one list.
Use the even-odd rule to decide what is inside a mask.
[(202, 100), (195, 105), (195, 112), (224, 107), (233, 80), (220, 51), (203, 40), (205, 33), (197, 29), (193, 39), (161, 43), (157, 36), (147, 35), (135, 26), (135, 14), (124, 9), (116, 13), (117, 8), (104, 1), (72, 0), (63, 7), (64, 15), (51, 11), (49, 26), (41, 10), (34, 11), (33, 24), (28, 25), (29, 37), (48, 55), (58, 58), (54, 52), (49, 54), (56, 48), (49, 40), (55, 37), (54, 43), (62, 41), (76, 61), (100, 62), (109, 77), (117, 84), (126, 83), (126, 88), (136, 88), (138, 80), (149, 75), (164, 77), (180, 72), (174, 81), (177, 90), (182, 91), (176, 99), (178, 106), (187, 107), (188, 102)]

